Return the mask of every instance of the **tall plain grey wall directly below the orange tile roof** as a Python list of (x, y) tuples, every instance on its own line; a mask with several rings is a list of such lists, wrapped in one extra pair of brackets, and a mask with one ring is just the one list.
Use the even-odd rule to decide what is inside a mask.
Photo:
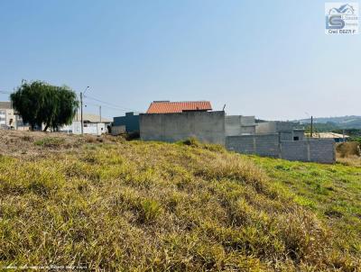
[(143, 141), (199, 141), (225, 144), (225, 112), (184, 112), (139, 115)]

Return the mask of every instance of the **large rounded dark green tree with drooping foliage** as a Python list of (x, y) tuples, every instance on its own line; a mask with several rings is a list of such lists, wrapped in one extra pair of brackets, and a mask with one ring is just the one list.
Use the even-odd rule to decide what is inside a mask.
[(10, 95), (14, 109), (23, 122), (57, 131), (62, 125), (71, 123), (79, 101), (68, 86), (51, 86), (42, 81), (24, 82)]

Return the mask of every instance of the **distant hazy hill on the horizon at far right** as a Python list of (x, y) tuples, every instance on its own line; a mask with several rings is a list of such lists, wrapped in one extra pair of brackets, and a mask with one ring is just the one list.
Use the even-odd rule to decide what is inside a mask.
[[(310, 123), (310, 119), (297, 120), (301, 124)], [(314, 118), (315, 125), (320, 127), (327, 125), (332, 129), (361, 129), (361, 116), (339, 116), (339, 117), (318, 117)]]

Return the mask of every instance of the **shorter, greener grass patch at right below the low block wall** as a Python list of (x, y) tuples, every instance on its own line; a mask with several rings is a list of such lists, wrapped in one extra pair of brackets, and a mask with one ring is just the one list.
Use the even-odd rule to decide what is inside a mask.
[[(282, 194), (337, 233), (339, 249), (361, 256), (361, 168), (253, 157)], [(280, 190), (281, 192), (281, 190)]]

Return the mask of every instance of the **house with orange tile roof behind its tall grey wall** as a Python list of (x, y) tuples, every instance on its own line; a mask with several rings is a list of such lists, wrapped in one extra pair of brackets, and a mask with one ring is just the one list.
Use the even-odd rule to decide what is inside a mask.
[(199, 141), (225, 144), (225, 112), (212, 111), (208, 101), (154, 101), (139, 115), (144, 141)]

